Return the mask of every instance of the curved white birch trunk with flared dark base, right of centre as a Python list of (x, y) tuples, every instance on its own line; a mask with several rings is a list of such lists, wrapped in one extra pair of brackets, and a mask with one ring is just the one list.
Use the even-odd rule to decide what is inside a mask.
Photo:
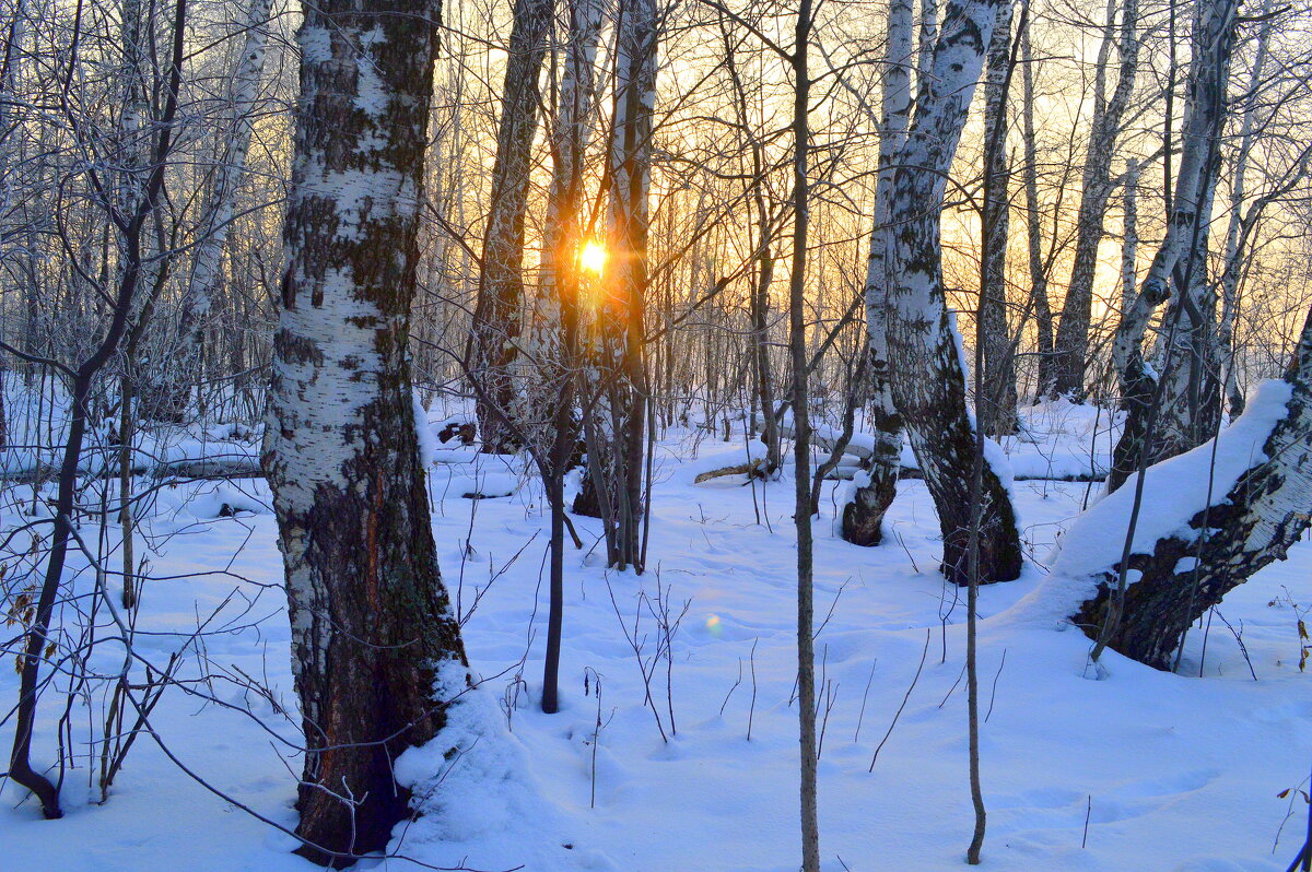
[[(943, 288), (939, 207), (1004, 1), (963, 0), (946, 5), (942, 31), (928, 62), (929, 73), (918, 83), (920, 96), (897, 160), (888, 216), (896, 228), (888, 286), (893, 403), (907, 422), (912, 448), (938, 509), (943, 573), (962, 585), (970, 574), (966, 553), (975, 426), (966, 405), (960, 337)], [(1015, 513), (988, 459), (984, 459), (980, 498), (980, 581), (1010, 581), (1019, 574), (1022, 560)]]

